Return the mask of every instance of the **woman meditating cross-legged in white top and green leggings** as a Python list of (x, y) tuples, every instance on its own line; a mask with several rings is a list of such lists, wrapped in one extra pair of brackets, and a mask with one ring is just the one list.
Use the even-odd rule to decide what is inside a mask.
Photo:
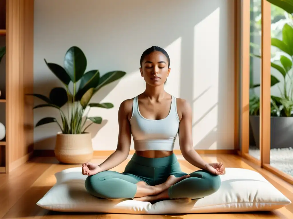
[[(198, 199), (216, 192), (225, 168), (206, 163), (194, 150), (190, 105), (164, 91), (171, 70), (168, 53), (157, 46), (148, 48), (139, 69), (146, 89), (119, 107), (117, 149), (99, 165), (82, 165), (87, 191), (102, 199), (140, 201)], [(181, 171), (173, 153), (177, 134), (183, 157), (201, 170)], [(131, 135), (135, 153), (124, 172), (109, 171), (127, 159)]]

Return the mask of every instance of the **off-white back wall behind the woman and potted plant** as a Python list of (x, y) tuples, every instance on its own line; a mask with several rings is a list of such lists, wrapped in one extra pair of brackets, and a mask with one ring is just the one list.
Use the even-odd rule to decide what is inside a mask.
[[(145, 88), (140, 56), (150, 46), (160, 46), (171, 58), (166, 91), (193, 107), (194, 147), (233, 149), (233, 8), (231, 0), (35, 0), (35, 93), (49, 95), (53, 86), (61, 85), (43, 59), (62, 65), (73, 45), (86, 54), (87, 70), (126, 71), (119, 83), (104, 87), (92, 99), (115, 107), (92, 109), (89, 114), (107, 120), (103, 127), (88, 129), (94, 150), (115, 150), (118, 107)], [(47, 116), (59, 119), (59, 112), (35, 109), (35, 124)], [(57, 131), (56, 124), (35, 128), (35, 149), (53, 149)], [(179, 149), (178, 138), (175, 149)]]

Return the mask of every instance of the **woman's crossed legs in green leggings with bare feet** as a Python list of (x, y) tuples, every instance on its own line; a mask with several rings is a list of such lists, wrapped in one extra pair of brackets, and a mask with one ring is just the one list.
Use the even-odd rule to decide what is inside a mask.
[(221, 185), (219, 175), (204, 170), (188, 174), (170, 175), (166, 182), (148, 185), (132, 174), (103, 171), (86, 179), (87, 191), (104, 199), (128, 199), (154, 201), (159, 199), (198, 199), (216, 192)]

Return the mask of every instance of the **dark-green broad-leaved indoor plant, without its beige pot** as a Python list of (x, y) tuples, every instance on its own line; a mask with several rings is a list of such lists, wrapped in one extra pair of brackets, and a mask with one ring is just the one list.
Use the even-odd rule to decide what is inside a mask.
[[(54, 107), (59, 110), (62, 124), (54, 117), (45, 117), (37, 122), (36, 127), (55, 122), (64, 134), (81, 134), (93, 123), (101, 124), (101, 117), (88, 117), (91, 107), (110, 109), (114, 105), (110, 102), (90, 103), (91, 98), (103, 86), (122, 78), (126, 72), (112, 71), (100, 77), (99, 70), (86, 71), (87, 59), (83, 51), (76, 46), (68, 49), (64, 56), (64, 67), (45, 60), (47, 67), (63, 83), (63, 87), (55, 87), (50, 91), (49, 98), (42, 94), (30, 94), (45, 101), (34, 109), (41, 107)], [(78, 86), (79, 84), (79, 86)], [(78, 86), (78, 87), (77, 87)], [(67, 104), (67, 115), (62, 111), (62, 106)], [(83, 115), (89, 107), (85, 118)], [(87, 120), (91, 123), (85, 126)]]

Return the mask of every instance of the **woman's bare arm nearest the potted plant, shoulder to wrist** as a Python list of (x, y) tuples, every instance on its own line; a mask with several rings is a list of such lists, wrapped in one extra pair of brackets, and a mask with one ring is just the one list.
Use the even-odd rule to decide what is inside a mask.
[(131, 144), (131, 130), (129, 122), (129, 115), (131, 115), (131, 112), (132, 100), (123, 101), (120, 104), (118, 111), (119, 134), (117, 149), (110, 155), (110, 157), (108, 157), (108, 159), (98, 165), (100, 167), (99, 172), (118, 166), (128, 157)]

